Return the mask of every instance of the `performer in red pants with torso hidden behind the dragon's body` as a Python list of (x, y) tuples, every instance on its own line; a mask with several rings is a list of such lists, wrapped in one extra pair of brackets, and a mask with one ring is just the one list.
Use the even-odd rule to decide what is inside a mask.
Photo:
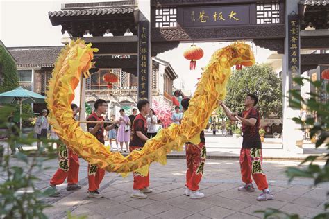
[[(183, 107), (183, 112), (185, 112), (189, 108), (189, 98), (183, 99), (180, 104)], [(199, 183), (203, 175), (206, 157), (205, 133), (203, 130), (200, 133), (200, 143), (185, 143), (185, 151), (187, 164), (185, 195), (189, 198), (203, 198), (205, 195), (199, 192)]]

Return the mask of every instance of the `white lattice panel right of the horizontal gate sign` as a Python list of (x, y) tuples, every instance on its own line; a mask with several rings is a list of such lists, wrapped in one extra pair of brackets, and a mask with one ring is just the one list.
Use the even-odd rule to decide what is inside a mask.
[(280, 23), (279, 3), (258, 3), (256, 8), (257, 24)]

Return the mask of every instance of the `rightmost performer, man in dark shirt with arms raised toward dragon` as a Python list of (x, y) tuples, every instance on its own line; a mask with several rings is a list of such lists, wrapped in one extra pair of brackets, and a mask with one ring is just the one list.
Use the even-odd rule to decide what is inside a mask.
[[(273, 195), (269, 191), (266, 175), (262, 170), (262, 143), (260, 141), (260, 114), (255, 108), (258, 103), (258, 97), (248, 94), (244, 99), (244, 111), (241, 114), (232, 113), (230, 109), (219, 101), (219, 105), (231, 121), (242, 121), (243, 141), (240, 152), (240, 167), (242, 173), (242, 181), (244, 186), (239, 187), (239, 191), (255, 191), (253, 188), (253, 180), (258, 189), (262, 190), (258, 201), (266, 201), (273, 199)], [(253, 180), (251, 179), (253, 176)]]

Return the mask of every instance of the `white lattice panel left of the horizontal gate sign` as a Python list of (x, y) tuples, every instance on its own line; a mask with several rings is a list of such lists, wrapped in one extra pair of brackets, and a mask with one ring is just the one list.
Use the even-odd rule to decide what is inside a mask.
[(176, 26), (177, 26), (176, 8), (155, 9), (155, 27), (176, 27)]

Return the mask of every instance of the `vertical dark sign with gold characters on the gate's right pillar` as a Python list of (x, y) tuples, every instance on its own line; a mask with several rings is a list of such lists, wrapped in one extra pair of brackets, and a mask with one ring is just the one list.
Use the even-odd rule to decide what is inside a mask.
[(293, 78), (301, 76), (301, 64), (299, 55), (299, 17), (298, 15), (288, 15), (288, 67), (289, 67), (289, 89), (301, 89), (293, 81)]

